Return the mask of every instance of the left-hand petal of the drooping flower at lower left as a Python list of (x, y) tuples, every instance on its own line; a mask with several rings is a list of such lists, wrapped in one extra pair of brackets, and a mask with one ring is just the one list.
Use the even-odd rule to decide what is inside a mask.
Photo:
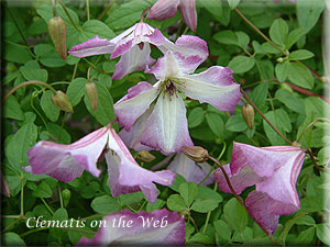
[(80, 177), (84, 169), (98, 177), (100, 170), (96, 164), (107, 139), (108, 130), (102, 127), (70, 145), (38, 142), (28, 151), (30, 166), (25, 170), (65, 182)]

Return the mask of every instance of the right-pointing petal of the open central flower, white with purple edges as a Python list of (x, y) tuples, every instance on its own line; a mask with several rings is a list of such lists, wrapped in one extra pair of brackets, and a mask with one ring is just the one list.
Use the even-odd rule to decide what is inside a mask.
[(177, 78), (180, 90), (189, 98), (212, 104), (220, 111), (233, 111), (241, 99), (240, 86), (234, 82), (228, 67), (212, 66), (196, 74)]

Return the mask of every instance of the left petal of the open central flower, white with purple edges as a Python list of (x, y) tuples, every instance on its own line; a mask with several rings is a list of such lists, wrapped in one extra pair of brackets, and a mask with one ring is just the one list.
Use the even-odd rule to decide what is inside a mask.
[(114, 104), (114, 113), (119, 123), (130, 131), (134, 122), (142, 115), (158, 96), (158, 89), (142, 81), (129, 89), (128, 94)]

